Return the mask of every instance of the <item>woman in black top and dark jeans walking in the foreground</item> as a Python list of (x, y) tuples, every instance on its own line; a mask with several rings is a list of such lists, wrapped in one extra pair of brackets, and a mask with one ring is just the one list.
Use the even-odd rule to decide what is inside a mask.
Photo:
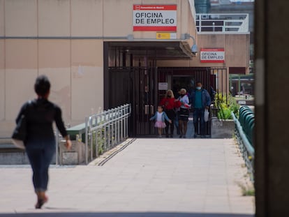
[(55, 152), (55, 137), (52, 124), (55, 121), (61, 135), (66, 139), (66, 148), (71, 149), (61, 109), (50, 103), (50, 82), (45, 75), (37, 77), (34, 90), (38, 98), (24, 103), (17, 116), (16, 123), (24, 115), (27, 120), (27, 138), (24, 142), (27, 156), (33, 170), (33, 184), (37, 195), (36, 209), (47, 202), (45, 195), (48, 184), (48, 168)]

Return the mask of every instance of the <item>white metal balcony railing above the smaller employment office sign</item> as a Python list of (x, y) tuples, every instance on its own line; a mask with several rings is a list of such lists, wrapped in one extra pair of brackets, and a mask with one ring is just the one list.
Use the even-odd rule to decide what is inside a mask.
[(196, 14), (196, 28), (201, 32), (246, 33), (249, 32), (249, 14)]

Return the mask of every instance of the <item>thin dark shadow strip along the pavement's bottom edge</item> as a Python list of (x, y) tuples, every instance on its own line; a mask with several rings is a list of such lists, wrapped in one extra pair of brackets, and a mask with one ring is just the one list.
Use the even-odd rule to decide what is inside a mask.
[(250, 214), (200, 214), (200, 213), (166, 213), (166, 212), (61, 212), (61, 213), (27, 213), (0, 214), (0, 217), (253, 217)]

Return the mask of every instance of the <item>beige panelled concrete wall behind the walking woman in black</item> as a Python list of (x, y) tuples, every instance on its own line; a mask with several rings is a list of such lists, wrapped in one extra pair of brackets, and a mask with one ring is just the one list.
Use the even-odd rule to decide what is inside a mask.
[[(164, 1), (0, 0), (0, 137), (10, 136), (20, 106), (36, 97), (33, 85), (40, 74), (50, 77), (50, 100), (61, 106), (67, 124), (98, 112), (103, 41), (129, 34), (156, 40), (156, 32), (133, 32), (133, 4), (150, 3)], [(177, 4), (177, 38), (195, 34), (188, 1), (165, 3)]]

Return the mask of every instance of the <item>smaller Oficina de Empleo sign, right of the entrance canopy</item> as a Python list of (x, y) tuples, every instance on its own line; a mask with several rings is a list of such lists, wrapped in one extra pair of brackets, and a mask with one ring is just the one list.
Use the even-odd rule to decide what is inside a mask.
[(225, 63), (225, 50), (221, 49), (201, 49), (201, 63)]

